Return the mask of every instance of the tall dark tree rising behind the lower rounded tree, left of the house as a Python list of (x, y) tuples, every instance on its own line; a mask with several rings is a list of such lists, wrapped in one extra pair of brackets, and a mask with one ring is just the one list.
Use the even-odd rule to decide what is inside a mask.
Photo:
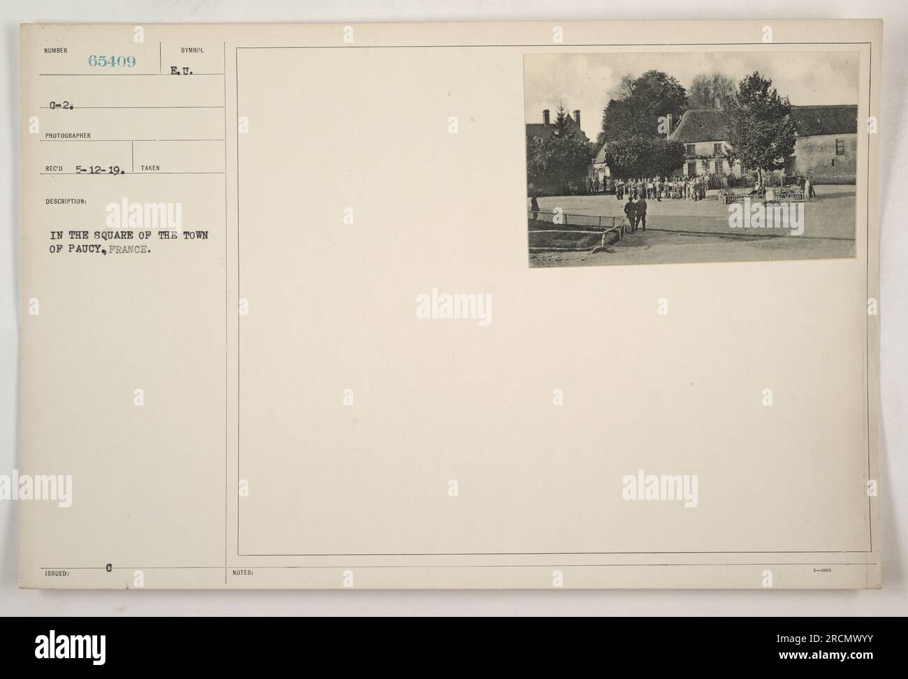
[(661, 71), (647, 71), (638, 78), (626, 75), (602, 113), (598, 142), (615, 142), (630, 135), (656, 137), (659, 118), (672, 113), (678, 119), (686, 107), (685, 88), (672, 76)]

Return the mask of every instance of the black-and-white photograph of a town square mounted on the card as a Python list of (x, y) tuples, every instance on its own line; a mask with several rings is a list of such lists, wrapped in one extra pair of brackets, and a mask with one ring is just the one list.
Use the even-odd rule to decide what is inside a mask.
[(526, 55), (530, 267), (854, 258), (859, 57)]

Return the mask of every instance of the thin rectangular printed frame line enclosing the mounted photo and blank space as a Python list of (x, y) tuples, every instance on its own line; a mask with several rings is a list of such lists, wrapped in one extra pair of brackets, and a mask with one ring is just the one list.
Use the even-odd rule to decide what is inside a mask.
[[(870, 113), (870, 107), (873, 102), (873, 42), (872, 41), (834, 41), (834, 42), (786, 42), (786, 43), (772, 43), (772, 44), (814, 44), (814, 45), (825, 45), (825, 44), (858, 44), (858, 45), (868, 45), (869, 53), (869, 63), (868, 63), (868, 100), (867, 100), (867, 112)], [(560, 48), (565, 47), (652, 47), (652, 46), (676, 46), (676, 47), (685, 47), (685, 46), (730, 46), (730, 45), (753, 45), (761, 46), (765, 43), (618, 43), (618, 44), (563, 44), (560, 45)], [(239, 68), (239, 52), (242, 49), (248, 50), (271, 50), (271, 49), (386, 49), (386, 48), (400, 48), (400, 49), (424, 49), (424, 48), (458, 48), (458, 47), (549, 47), (550, 44), (396, 44), (396, 45), (272, 45), (272, 46), (245, 46), (241, 47), (239, 45), (234, 46), (234, 74), (236, 75), (236, 114), (240, 113), (240, 68)], [(860, 105), (860, 103), (859, 103)], [(225, 111), (226, 116), (226, 111)], [(226, 133), (226, 131), (225, 131)], [(237, 184), (237, 224), (236, 224), (236, 280), (237, 280), (237, 298), (239, 299), (240, 295), (240, 133), (239, 128), (236, 130), (236, 184)], [(870, 288), (870, 133), (867, 131), (867, 177), (866, 177), (866, 199), (867, 199), (867, 217), (865, 225), (865, 246), (864, 246), (864, 266), (865, 266), (865, 290), (867, 290), (867, 295), (869, 296)], [(226, 168), (225, 168), (226, 169)], [(225, 239), (226, 240), (226, 239)], [(850, 259), (850, 258), (849, 258)], [(225, 266), (225, 276), (226, 269)], [(866, 395), (866, 414), (867, 414), (867, 477), (870, 477), (870, 465), (871, 465), (871, 436), (870, 436), (870, 347), (869, 347), (869, 330), (870, 320), (869, 316), (864, 324), (864, 355), (866, 359), (866, 369), (864, 374), (864, 392)], [(237, 359), (237, 403), (236, 403), (236, 413), (237, 413), (237, 439), (236, 439), (236, 467), (237, 467), (237, 480), (240, 478), (240, 322), (238, 317), (237, 322), (237, 342), (236, 342), (236, 359)], [(873, 553), (873, 499), (867, 497), (867, 518), (868, 518), (868, 532), (869, 532), (869, 549), (867, 550), (830, 550), (830, 551), (778, 551), (778, 552), (765, 552), (765, 551), (743, 551), (743, 552), (467, 552), (467, 553), (438, 553), (438, 554), (428, 554), (428, 553), (413, 553), (413, 554), (404, 554), (404, 553), (392, 553), (392, 554), (242, 554), (240, 552), (240, 502), (237, 498), (237, 507), (236, 507), (236, 548), (238, 557), (244, 556), (272, 556), (272, 557), (299, 557), (299, 556), (592, 556), (592, 555), (647, 555), (647, 554), (871, 554)], [(226, 542), (226, 540), (225, 540)], [(646, 566), (646, 565), (638, 565)], [(668, 566), (668, 565), (666, 565)], [(689, 564), (679, 564), (678, 566), (690, 566)], [(875, 564), (873, 564), (875, 566)], [(237, 566), (240, 567), (240, 566)], [(252, 567), (252, 566), (247, 566)], [(274, 567), (283, 567), (283, 566), (274, 566)], [(291, 566), (287, 566), (291, 567)], [(304, 566), (296, 566), (304, 567)], [(329, 567), (329, 566), (324, 566)], [(360, 566), (363, 567), (363, 566)], [(400, 566), (400, 567), (418, 567), (418, 566)], [(472, 567), (472, 566), (449, 566), (449, 567)], [(483, 566), (475, 566), (483, 567)]]

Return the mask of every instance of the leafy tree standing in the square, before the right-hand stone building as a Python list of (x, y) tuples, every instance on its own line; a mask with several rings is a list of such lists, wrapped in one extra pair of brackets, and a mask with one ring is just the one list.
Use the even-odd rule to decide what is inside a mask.
[(780, 170), (795, 152), (795, 123), (791, 103), (758, 72), (738, 84), (737, 96), (725, 110), (728, 126), (729, 162), (741, 161), (746, 168)]

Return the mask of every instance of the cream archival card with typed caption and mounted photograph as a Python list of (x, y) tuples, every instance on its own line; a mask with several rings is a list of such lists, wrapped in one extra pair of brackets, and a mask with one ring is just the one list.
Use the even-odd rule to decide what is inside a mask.
[(22, 26), (21, 585), (880, 586), (881, 36)]

